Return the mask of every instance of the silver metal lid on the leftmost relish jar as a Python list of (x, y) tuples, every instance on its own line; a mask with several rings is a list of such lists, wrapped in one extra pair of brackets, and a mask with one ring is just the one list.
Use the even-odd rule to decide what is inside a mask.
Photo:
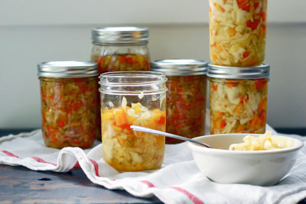
[(37, 65), (38, 77), (83, 78), (98, 75), (97, 63), (91, 61), (51, 61)]

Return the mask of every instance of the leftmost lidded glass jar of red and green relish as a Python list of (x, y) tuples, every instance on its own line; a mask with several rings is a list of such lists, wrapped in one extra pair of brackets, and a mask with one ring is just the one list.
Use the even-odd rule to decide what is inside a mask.
[(45, 145), (90, 148), (98, 131), (97, 64), (53, 61), (37, 66)]

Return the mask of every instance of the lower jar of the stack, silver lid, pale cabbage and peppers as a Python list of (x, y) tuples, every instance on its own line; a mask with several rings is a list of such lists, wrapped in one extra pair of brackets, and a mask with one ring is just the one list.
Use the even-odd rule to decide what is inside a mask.
[(211, 134), (265, 133), (269, 71), (209, 64)]

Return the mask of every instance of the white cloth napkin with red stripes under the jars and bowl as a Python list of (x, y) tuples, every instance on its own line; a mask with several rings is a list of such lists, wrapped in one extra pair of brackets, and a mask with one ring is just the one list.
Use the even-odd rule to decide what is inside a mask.
[[(268, 125), (267, 130), (276, 134)], [(306, 137), (288, 136), (306, 140)], [(210, 181), (197, 168), (187, 142), (166, 145), (164, 163), (158, 170), (119, 173), (104, 161), (98, 141), (91, 149), (66, 147), (59, 150), (44, 145), (41, 130), (0, 138), (0, 164), (57, 172), (82, 168), (95, 184), (108, 189), (125, 189), (140, 197), (156, 195), (165, 203), (296, 203), (306, 197), (305, 154), (306, 146), (281, 182), (261, 187)]]

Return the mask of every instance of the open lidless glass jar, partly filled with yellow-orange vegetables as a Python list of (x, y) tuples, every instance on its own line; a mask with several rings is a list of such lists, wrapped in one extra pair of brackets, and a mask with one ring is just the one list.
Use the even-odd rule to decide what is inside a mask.
[(133, 131), (130, 125), (166, 130), (166, 81), (163, 73), (151, 71), (100, 74), (103, 156), (116, 170), (162, 165), (165, 137)]

